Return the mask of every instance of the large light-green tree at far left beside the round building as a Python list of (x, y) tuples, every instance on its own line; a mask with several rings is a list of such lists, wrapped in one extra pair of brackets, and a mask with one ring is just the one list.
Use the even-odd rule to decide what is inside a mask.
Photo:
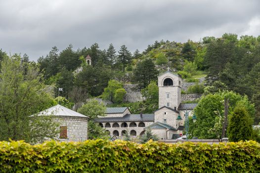
[(1, 62), (0, 140), (35, 142), (45, 137), (54, 138), (56, 123), (48, 118), (39, 121), (30, 116), (56, 102), (44, 91), (43, 75), (38, 67), (28, 64), (26, 75), (23, 68), (19, 57), (5, 57)]

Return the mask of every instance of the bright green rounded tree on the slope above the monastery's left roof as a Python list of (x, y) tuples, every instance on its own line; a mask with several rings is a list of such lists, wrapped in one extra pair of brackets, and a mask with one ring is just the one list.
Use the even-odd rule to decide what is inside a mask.
[(118, 82), (116, 80), (110, 80), (108, 82), (108, 86), (104, 89), (102, 98), (105, 100), (110, 100), (114, 103), (116, 101), (115, 100), (116, 90), (122, 89), (122, 88), (123, 88), (123, 84), (121, 84), (120, 82)]

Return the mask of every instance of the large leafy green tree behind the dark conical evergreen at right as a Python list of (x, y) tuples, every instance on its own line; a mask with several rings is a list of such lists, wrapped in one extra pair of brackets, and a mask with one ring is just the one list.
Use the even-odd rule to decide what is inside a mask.
[[(195, 115), (197, 117), (196, 126), (190, 127), (191, 134), (199, 138), (217, 138), (220, 131), (211, 130), (219, 124), (219, 117), (221, 120), (224, 116), (224, 99), (229, 99), (228, 115), (232, 113), (237, 105), (244, 105), (249, 114), (254, 117), (255, 108), (247, 96), (241, 96), (233, 91), (219, 91), (215, 94), (208, 94), (201, 97), (198, 105), (195, 107)], [(221, 122), (222, 125), (222, 122)]]

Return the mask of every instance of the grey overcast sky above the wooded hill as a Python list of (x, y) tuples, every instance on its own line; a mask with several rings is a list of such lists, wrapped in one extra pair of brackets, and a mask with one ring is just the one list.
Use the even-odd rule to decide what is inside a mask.
[(31, 60), (98, 43), (144, 50), (156, 40), (260, 35), (260, 0), (0, 0), (0, 48)]

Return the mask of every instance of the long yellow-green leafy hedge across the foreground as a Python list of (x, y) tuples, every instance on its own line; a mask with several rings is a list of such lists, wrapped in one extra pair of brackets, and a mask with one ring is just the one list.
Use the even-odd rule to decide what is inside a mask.
[(87, 140), (0, 142), (0, 172), (5, 173), (245, 173), (260, 172), (260, 144), (165, 144), (149, 141)]

